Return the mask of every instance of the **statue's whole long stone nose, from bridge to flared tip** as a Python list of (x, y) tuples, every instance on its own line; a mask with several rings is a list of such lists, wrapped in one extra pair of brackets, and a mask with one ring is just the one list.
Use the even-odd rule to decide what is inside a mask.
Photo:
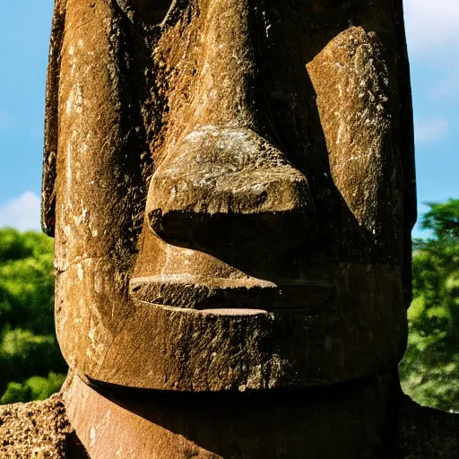
[(160, 238), (186, 247), (218, 244), (210, 234), (240, 247), (280, 230), (297, 244), (315, 221), (308, 179), (262, 135), (248, 2), (222, 3), (208, 2), (204, 12), (203, 51), (182, 118), (189, 134), (166, 146), (152, 176), (149, 223)]

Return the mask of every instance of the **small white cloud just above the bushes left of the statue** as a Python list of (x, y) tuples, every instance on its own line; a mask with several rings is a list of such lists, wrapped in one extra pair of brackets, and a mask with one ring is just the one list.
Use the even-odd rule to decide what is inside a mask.
[(17, 230), (39, 230), (40, 199), (31, 191), (0, 205), (0, 227)]

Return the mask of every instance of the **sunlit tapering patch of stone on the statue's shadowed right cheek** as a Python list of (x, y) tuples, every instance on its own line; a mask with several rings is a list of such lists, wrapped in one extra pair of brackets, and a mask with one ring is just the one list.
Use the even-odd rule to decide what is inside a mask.
[(400, 102), (386, 55), (376, 33), (351, 27), (307, 64), (333, 182), (375, 243), (403, 225)]

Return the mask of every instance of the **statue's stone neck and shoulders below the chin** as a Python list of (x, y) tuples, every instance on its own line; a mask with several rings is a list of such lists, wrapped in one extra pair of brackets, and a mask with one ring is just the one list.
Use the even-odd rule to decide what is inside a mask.
[(307, 391), (191, 396), (96, 390), (70, 376), (63, 395), (0, 408), (0, 455), (8, 458), (455, 459), (458, 432), (457, 415), (413, 403), (389, 375)]

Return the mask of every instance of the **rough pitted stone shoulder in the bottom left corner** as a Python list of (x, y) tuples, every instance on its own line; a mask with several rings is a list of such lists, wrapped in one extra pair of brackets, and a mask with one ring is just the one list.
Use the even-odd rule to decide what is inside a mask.
[(87, 459), (59, 394), (43, 402), (0, 406), (2, 459)]

